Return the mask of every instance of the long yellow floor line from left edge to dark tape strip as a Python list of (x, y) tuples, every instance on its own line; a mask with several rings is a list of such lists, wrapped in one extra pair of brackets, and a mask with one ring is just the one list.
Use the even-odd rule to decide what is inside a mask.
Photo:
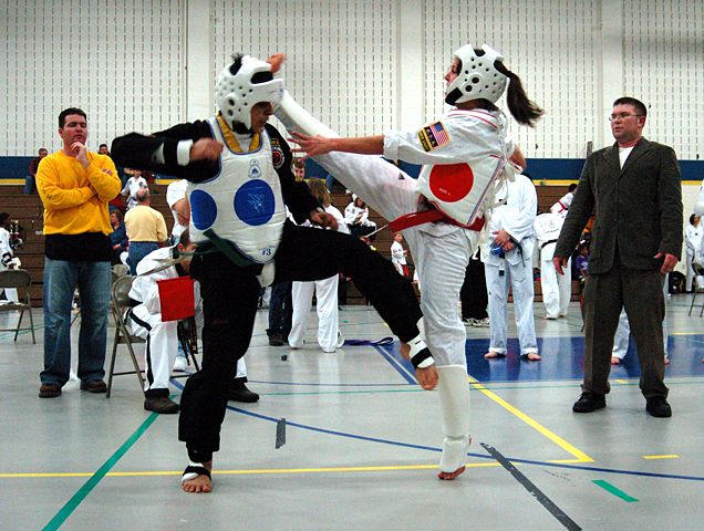
[[(498, 462), (468, 462), (467, 468), (496, 468)], [(393, 470), (435, 470), (435, 465), (394, 465), (380, 467), (325, 467), (325, 468), (270, 468), (250, 470), (214, 470), (213, 475), (219, 476), (244, 476), (244, 475), (267, 475), (267, 473), (331, 473), (331, 472), (383, 472)], [(87, 478), (94, 472), (18, 472), (0, 473), (0, 478)], [(107, 472), (106, 477), (148, 477), (148, 476), (180, 476), (180, 470), (135, 470), (132, 472)]]

